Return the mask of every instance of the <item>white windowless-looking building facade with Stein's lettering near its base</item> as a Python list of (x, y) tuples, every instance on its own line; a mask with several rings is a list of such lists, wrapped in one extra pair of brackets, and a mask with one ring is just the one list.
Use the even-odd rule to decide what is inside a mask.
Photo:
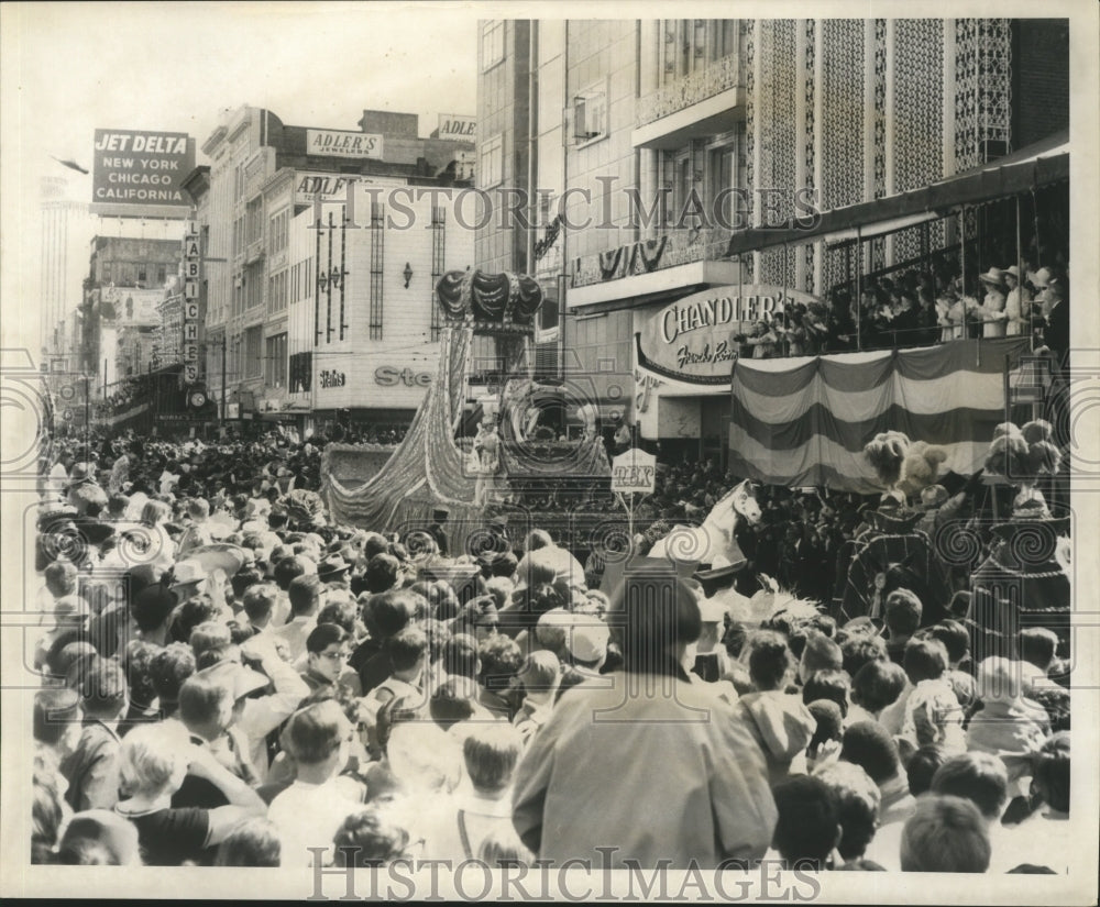
[(323, 202), (290, 222), (282, 342), (287, 408), (309, 413), (304, 428), (404, 428), (435, 379), (443, 328), (435, 287), (471, 266), (474, 236), (455, 215), (463, 189), (431, 188), (364, 179), (350, 220), (345, 202)]

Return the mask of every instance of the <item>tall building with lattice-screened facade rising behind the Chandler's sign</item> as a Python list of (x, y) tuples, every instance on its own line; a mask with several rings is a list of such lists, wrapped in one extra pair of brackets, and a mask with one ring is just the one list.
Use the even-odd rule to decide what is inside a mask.
[[(479, 187), (526, 191), (537, 228), (522, 248), (487, 224), (477, 266), (530, 270), (544, 288), (557, 277), (560, 325), (548, 316), (537, 340), (557, 339), (558, 368), (632, 370), (642, 439), (722, 453), (730, 360), (712, 343), (700, 347), (707, 368), (684, 368), (674, 345), (666, 367), (639, 364), (642, 339), (675, 339), (658, 330), (683, 314), (670, 307), (707, 290), (741, 311), (746, 287), (746, 313), (754, 298), (827, 299), (860, 268), (957, 245), (948, 218), (891, 224), (858, 252), (794, 231), (774, 247), (746, 237), (949, 179), (1066, 129), (1067, 60), (1060, 20), (483, 22)], [(971, 208), (961, 226), (968, 240), (979, 215)]]

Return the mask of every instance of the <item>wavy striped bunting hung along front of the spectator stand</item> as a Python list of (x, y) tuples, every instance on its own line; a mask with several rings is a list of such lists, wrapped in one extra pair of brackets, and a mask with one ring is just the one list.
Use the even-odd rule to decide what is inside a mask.
[(947, 450), (945, 467), (981, 468), (1004, 421), (1004, 369), (1026, 338), (798, 360), (739, 360), (733, 372), (729, 467), (774, 485), (872, 494), (864, 445), (883, 431)]

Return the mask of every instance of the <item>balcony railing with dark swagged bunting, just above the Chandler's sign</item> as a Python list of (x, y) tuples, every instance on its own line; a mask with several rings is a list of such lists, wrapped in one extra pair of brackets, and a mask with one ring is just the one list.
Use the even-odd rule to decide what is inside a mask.
[(572, 264), (572, 286), (587, 287), (693, 262), (716, 262), (726, 257), (728, 246), (728, 230), (666, 230), (654, 240), (640, 240), (575, 258)]

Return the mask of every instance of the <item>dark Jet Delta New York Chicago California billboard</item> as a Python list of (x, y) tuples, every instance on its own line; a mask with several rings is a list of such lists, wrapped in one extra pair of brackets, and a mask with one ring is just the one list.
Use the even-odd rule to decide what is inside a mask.
[(97, 129), (91, 212), (106, 217), (185, 218), (195, 140), (184, 132)]

